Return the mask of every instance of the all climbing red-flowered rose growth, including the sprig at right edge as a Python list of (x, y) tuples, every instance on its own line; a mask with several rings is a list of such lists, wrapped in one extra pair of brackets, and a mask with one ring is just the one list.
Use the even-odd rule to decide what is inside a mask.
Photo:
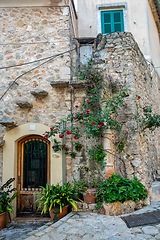
[[(111, 84), (111, 81), (108, 86), (104, 81), (103, 73), (96, 69), (92, 61), (82, 66), (78, 72), (78, 77), (85, 86), (86, 97), (84, 103), (78, 112), (69, 114), (50, 128), (50, 131), (45, 133), (44, 138), (53, 137), (54, 139), (56, 134), (59, 135), (60, 139), (65, 138), (66, 135), (71, 136), (75, 150), (72, 149), (71, 151), (68, 146), (55, 139), (53, 140), (53, 149), (54, 151), (63, 149), (66, 154), (70, 154), (72, 158), (75, 158), (76, 151), (79, 151), (78, 144), (81, 144), (81, 138), (83, 138), (84, 134), (88, 139), (95, 139), (96, 142), (101, 143), (103, 132), (110, 129), (117, 131), (122, 136), (115, 144), (115, 147), (119, 153), (124, 151), (127, 136), (122, 131), (122, 123), (117, 119), (120, 108), (125, 98), (129, 96), (130, 90), (126, 87), (119, 88), (115, 83)], [(138, 95), (136, 97), (137, 100), (141, 99)], [(139, 104), (138, 108), (143, 111), (143, 114), (137, 114), (134, 118), (140, 123), (141, 131), (145, 131), (147, 128), (154, 130), (159, 127), (160, 115), (152, 114), (152, 108), (148, 106), (141, 107)], [(143, 117), (141, 117), (142, 115)], [(101, 147), (89, 149), (88, 154), (90, 159), (94, 160), (102, 170), (105, 167), (105, 154)], [(101, 157), (98, 157), (98, 155)]]

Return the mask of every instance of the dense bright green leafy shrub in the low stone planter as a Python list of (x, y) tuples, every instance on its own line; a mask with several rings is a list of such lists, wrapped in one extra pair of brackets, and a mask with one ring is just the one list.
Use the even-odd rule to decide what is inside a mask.
[(100, 184), (97, 193), (99, 201), (111, 203), (115, 201), (124, 202), (126, 200), (144, 200), (147, 197), (145, 186), (137, 178), (129, 180), (120, 175), (112, 174), (105, 182)]

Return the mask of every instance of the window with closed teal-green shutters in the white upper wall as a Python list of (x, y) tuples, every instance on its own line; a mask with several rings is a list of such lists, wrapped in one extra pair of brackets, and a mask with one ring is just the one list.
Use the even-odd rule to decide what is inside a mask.
[(123, 32), (123, 10), (101, 12), (102, 34)]

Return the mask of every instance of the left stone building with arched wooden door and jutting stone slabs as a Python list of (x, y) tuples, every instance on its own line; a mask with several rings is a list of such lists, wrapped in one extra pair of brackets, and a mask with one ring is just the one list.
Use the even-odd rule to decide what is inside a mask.
[[(51, 143), (45, 141), (43, 135), (71, 112), (72, 93), (68, 85), (76, 51), (70, 50), (76, 47), (77, 15), (70, 0), (1, 1), (0, 15), (1, 66), (18, 65), (1, 69), (0, 95), (9, 86), (10, 89), (0, 103), (0, 182), (2, 175), (3, 182), (15, 177), (18, 212), (30, 211), (34, 208), (32, 193), (36, 186), (64, 181), (66, 172), (70, 174), (70, 159), (66, 159), (65, 169), (64, 155), (59, 153), (55, 157)], [(61, 54), (63, 52), (66, 53)], [(45, 59), (51, 56), (51, 61)], [(41, 61), (37, 64), (34, 62), (37, 60)], [(20, 66), (32, 61), (32, 64)], [(22, 77), (15, 81), (20, 75)], [(67, 87), (61, 84), (59, 87), (60, 81)], [(23, 166), (25, 158), (29, 157), (24, 154), (26, 151), (29, 154), (31, 148), (34, 148), (32, 162)], [(43, 173), (36, 173), (37, 154), (41, 155), (41, 160), (45, 158), (45, 166), (40, 167)], [(35, 174), (36, 179), (33, 179)], [(30, 180), (26, 182), (26, 179)]]

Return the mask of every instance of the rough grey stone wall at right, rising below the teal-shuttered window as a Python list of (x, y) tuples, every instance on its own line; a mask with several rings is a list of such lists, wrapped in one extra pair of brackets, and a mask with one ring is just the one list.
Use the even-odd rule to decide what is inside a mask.
[[(140, 96), (142, 107), (153, 105), (153, 111), (159, 113), (158, 74), (144, 59), (131, 33), (112, 33), (103, 38), (93, 59), (99, 69), (103, 69), (105, 81), (116, 82), (118, 86), (127, 86), (131, 90), (125, 104), (119, 112), (123, 130), (127, 135), (127, 146), (121, 157), (125, 160), (127, 177), (137, 176), (146, 186), (155, 179), (159, 164), (159, 129), (144, 133), (131, 130), (137, 127), (133, 115), (137, 114), (136, 94)], [(141, 115), (142, 116), (142, 115)], [(116, 134), (116, 133), (115, 133)], [(116, 153), (117, 155), (118, 152)], [(129, 154), (129, 158), (126, 158)]]

